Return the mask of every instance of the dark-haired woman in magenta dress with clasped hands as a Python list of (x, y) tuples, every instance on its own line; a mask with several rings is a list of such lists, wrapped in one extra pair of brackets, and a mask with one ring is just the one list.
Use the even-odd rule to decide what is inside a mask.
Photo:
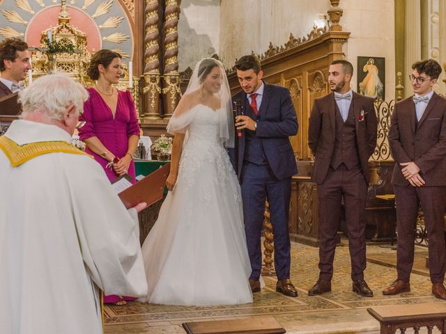
[[(114, 88), (123, 71), (121, 56), (114, 51), (100, 50), (91, 58), (87, 70), (94, 87), (87, 88), (89, 100), (84, 104), (81, 120), (86, 124), (79, 129), (79, 137), (86, 143), (85, 152), (104, 168), (110, 182), (127, 173), (134, 182), (132, 154), (139, 141), (139, 125), (130, 91)], [(122, 305), (125, 296), (104, 296), (105, 303)]]

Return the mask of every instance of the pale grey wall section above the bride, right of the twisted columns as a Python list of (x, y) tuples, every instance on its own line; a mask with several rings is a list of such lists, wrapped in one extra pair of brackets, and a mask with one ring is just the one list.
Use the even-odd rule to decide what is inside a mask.
[(180, 10), (178, 71), (183, 72), (193, 70), (201, 58), (219, 54), (220, 0), (183, 0)]

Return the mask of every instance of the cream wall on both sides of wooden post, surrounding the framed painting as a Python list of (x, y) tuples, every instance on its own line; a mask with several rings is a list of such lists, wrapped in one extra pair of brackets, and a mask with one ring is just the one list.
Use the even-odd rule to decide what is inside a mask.
[[(385, 57), (385, 100), (394, 99), (395, 47), (394, 1), (341, 0), (344, 14), (339, 22), (351, 32), (344, 53), (357, 67), (357, 56)], [(305, 13), (302, 13), (305, 10)], [(314, 23), (322, 24), (330, 1), (224, 0), (220, 9), (220, 58), (232, 67), (236, 58), (254, 51), (263, 54), (270, 42), (284, 45), (289, 34), (302, 38)], [(357, 90), (357, 72), (352, 87)]]

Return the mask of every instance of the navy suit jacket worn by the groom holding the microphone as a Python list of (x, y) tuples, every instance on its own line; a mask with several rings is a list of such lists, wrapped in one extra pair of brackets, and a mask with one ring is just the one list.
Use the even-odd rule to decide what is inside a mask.
[[(259, 109), (256, 136), (262, 141), (263, 151), (272, 173), (277, 179), (283, 180), (298, 173), (293, 148), (289, 141), (289, 136), (295, 136), (298, 133), (298, 118), (288, 88), (265, 82), (263, 84), (265, 88)], [(249, 101), (243, 90), (234, 95), (232, 100), (240, 101), (245, 106), (245, 110), (249, 107)], [(245, 131), (250, 130), (244, 129), (243, 132)], [(241, 137), (236, 136), (236, 140), (237, 138), (238, 166), (235, 166), (233, 150), (229, 150), (229, 156), (240, 180), (245, 154), (245, 134)]]

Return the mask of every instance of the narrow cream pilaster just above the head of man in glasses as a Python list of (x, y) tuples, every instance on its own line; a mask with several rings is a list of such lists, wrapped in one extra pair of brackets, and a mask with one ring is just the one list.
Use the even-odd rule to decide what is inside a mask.
[(406, 76), (403, 86), (406, 87), (404, 97), (412, 94), (412, 83), (408, 74), (412, 73), (412, 64), (421, 59), (421, 3), (420, 0), (406, 1), (406, 49), (404, 67)]

